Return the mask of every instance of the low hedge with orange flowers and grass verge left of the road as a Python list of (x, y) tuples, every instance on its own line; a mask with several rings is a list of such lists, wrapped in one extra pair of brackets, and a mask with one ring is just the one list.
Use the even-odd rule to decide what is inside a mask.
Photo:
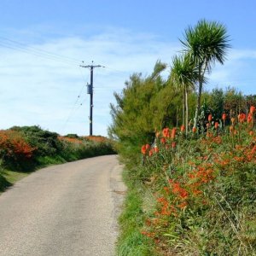
[(114, 154), (104, 137), (61, 137), (38, 126), (0, 131), (0, 192), (40, 167), (104, 154)]

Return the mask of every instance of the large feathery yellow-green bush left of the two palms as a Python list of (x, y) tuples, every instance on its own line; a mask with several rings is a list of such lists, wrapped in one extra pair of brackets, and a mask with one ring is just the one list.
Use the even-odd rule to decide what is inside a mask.
[[(157, 61), (154, 72), (143, 78), (131, 75), (121, 93), (114, 93), (110, 105), (113, 124), (108, 134), (119, 141), (119, 152), (132, 156), (139, 143), (153, 143), (154, 133), (166, 125), (177, 125), (181, 95), (160, 73), (166, 65)], [(139, 143), (138, 143), (139, 142)]]

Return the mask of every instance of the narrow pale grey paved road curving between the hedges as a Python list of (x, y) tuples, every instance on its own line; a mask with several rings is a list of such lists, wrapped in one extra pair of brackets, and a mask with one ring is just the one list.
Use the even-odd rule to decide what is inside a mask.
[(113, 256), (124, 184), (117, 156), (50, 166), (0, 195), (0, 255)]

